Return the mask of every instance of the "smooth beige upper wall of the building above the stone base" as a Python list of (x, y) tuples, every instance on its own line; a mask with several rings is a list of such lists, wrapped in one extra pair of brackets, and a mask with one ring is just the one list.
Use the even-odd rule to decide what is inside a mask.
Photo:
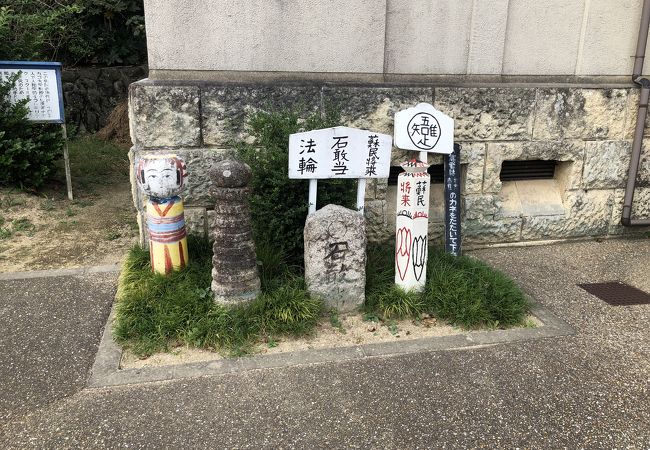
[(145, 0), (145, 12), (149, 66), (160, 78), (623, 76), (641, 0)]

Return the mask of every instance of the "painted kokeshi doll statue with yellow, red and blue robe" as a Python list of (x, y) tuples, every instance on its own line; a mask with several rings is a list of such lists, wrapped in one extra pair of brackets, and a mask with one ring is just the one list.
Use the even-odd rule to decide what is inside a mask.
[(143, 156), (137, 180), (147, 197), (149, 254), (154, 272), (168, 274), (188, 262), (183, 200), (185, 163), (176, 155)]

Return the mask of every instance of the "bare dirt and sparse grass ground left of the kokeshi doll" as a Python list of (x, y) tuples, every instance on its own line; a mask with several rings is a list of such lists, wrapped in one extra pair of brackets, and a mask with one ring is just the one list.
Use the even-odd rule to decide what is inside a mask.
[(138, 235), (127, 153), (71, 142), (72, 202), (62, 170), (37, 193), (0, 188), (0, 272), (119, 263)]

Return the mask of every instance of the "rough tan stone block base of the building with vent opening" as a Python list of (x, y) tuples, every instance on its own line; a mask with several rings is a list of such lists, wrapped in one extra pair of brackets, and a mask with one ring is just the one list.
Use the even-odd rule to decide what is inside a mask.
[[(435, 87), (244, 85), (189, 81), (134, 83), (129, 93), (131, 158), (174, 152), (185, 159), (189, 185), (186, 220), (208, 233), (212, 201), (208, 170), (231, 155), (232, 143), (252, 138), (251, 111), (293, 107), (305, 115), (336, 105), (342, 125), (392, 134), (400, 109), (430, 102), (455, 119), (463, 145), (463, 234), (469, 244), (536, 241), (635, 233), (620, 225), (624, 187), (636, 120), (635, 88)], [(650, 134), (650, 131), (648, 132)], [(650, 147), (645, 146), (633, 217), (650, 216)], [(393, 149), (394, 165), (413, 155)], [(553, 180), (502, 182), (509, 160), (554, 160)], [(429, 163), (442, 158), (430, 156)], [(135, 184), (134, 184), (135, 186)], [(142, 199), (134, 189), (139, 211)], [(395, 186), (368, 183), (367, 233), (371, 240), (394, 233)], [(306, 201), (306, 199), (305, 199)], [(431, 189), (430, 237), (443, 233), (442, 185)], [(322, 205), (319, 205), (322, 206)], [(142, 214), (140, 214), (140, 222)], [(145, 229), (141, 228), (144, 239)]]

